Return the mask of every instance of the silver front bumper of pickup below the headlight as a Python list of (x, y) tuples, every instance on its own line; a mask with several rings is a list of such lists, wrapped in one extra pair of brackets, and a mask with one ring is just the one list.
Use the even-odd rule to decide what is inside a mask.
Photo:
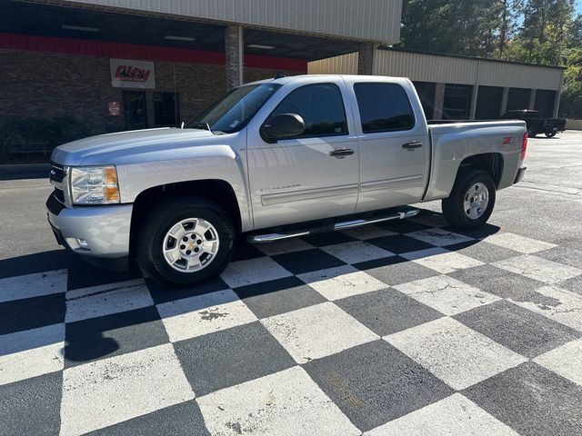
[(118, 259), (129, 255), (133, 204), (69, 209), (55, 202), (53, 195), (47, 200), (46, 209), (57, 243), (87, 257)]

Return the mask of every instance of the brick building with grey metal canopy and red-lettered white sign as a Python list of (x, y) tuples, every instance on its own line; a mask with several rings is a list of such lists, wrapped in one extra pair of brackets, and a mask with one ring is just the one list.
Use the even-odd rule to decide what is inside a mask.
[(0, 0), (0, 163), (45, 162), (89, 134), (179, 125), (238, 84), (397, 41), (399, 0), (366, 0), (346, 24), (355, 4)]

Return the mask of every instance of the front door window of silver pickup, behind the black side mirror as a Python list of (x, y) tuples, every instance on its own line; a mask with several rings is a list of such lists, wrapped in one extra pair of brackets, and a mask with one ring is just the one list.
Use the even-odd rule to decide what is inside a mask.
[(297, 114), (306, 124), (304, 134), (295, 137), (347, 134), (344, 100), (336, 84), (308, 84), (288, 94), (271, 117)]

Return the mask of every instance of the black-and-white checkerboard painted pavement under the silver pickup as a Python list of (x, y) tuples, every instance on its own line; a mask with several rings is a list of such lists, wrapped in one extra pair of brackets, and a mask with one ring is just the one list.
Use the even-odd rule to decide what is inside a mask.
[(582, 434), (581, 254), (426, 212), (192, 289), (4, 273), (0, 433)]

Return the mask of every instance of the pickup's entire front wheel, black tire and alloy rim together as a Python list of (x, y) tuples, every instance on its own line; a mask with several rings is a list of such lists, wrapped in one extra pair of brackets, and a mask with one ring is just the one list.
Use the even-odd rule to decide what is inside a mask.
[(175, 286), (218, 275), (232, 257), (235, 231), (226, 213), (198, 197), (176, 197), (146, 217), (136, 238), (137, 263), (147, 276)]

